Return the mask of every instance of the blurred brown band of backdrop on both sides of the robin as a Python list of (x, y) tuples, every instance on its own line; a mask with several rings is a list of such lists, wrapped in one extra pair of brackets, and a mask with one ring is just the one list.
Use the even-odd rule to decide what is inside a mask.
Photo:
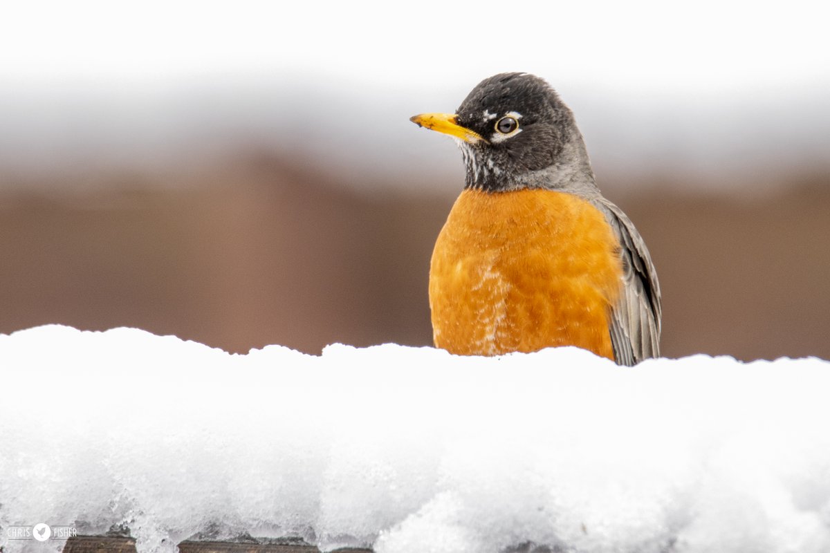
[[(430, 343), (429, 256), (458, 182), (357, 192), (261, 152), (174, 190), (99, 177), (121, 186), (0, 196), (0, 331), (129, 326), (232, 352)], [(657, 184), (615, 199), (657, 264), (666, 356), (830, 357), (828, 173), (741, 200)]]

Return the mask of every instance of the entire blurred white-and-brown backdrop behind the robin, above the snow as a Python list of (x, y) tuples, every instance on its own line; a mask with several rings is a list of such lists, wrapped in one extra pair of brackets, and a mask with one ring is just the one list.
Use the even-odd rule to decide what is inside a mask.
[(17, 2), (0, 18), (0, 332), (247, 352), (431, 342), (452, 141), (540, 75), (657, 265), (663, 352), (830, 358), (821, 2)]

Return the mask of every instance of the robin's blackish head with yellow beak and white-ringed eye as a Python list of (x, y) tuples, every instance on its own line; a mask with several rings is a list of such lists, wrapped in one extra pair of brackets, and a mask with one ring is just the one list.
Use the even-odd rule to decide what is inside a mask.
[(455, 114), (421, 114), (411, 120), (456, 139), (467, 188), (505, 192), (567, 188), (574, 182), (593, 187), (574, 114), (534, 75), (494, 75), (482, 80)]

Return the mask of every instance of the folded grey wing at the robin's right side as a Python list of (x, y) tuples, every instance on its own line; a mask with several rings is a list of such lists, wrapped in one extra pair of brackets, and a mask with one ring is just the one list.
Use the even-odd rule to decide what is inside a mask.
[(623, 295), (611, 312), (611, 344), (620, 365), (660, 357), (660, 284), (646, 243), (618, 206), (603, 197), (595, 200), (620, 242)]

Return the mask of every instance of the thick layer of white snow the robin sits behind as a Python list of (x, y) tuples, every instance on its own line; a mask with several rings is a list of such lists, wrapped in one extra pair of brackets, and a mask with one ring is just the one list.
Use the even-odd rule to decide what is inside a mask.
[(828, 361), (237, 356), (52, 326), (0, 336), (0, 363), (3, 528), (122, 524), (141, 553), (200, 531), (378, 553), (830, 551)]

